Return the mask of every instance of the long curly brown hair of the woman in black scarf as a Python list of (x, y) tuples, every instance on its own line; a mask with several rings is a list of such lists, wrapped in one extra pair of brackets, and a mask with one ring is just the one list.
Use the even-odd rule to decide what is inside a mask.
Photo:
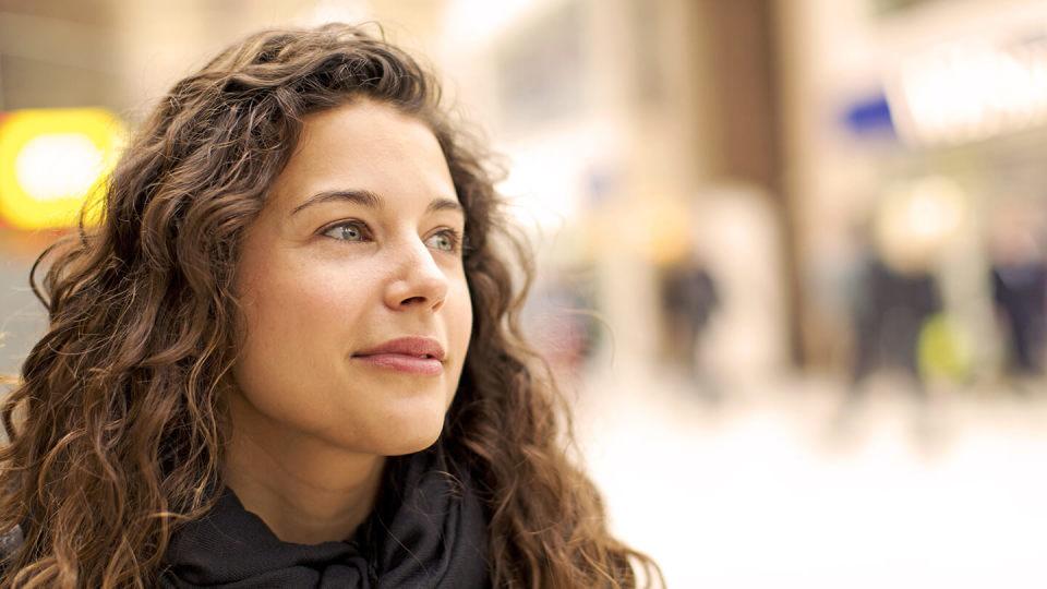
[(466, 211), (473, 332), (441, 443), (488, 509), (494, 585), (661, 578), (610, 534), (567, 456), (566, 402), (519, 325), (533, 265), (490, 158), (410, 56), (332, 24), (253, 35), (176, 84), (113, 172), (101, 224), (34, 265), (50, 327), (2, 409), (0, 529), (25, 530), (4, 585), (151, 586), (172, 530), (213, 507), (242, 344), (241, 237), (303, 117), (361, 96), (429, 124)]

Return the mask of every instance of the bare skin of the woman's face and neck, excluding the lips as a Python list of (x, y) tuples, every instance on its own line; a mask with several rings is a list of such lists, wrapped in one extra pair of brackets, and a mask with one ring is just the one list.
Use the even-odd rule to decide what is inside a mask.
[[(305, 118), (237, 267), (246, 341), (225, 465), (227, 484), (281, 540), (348, 538), (375, 503), (385, 457), (440, 435), (472, 327), (457, 202), (418, 119), (364, 99)], [(440, 374), (357, 356), (405, 336), (440, 342)]]

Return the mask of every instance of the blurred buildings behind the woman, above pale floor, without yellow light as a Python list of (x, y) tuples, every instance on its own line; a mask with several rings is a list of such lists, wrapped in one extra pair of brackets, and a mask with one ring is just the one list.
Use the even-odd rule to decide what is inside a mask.
[[(529, 320), (565, 370), (1043, 369), (1035, 0), (2, 0), (0, 111), (133, 128), (232, 39), (336, 20), (425, 56), (506, 156)], [(11, 371), (53, 233), (0, 237)]]

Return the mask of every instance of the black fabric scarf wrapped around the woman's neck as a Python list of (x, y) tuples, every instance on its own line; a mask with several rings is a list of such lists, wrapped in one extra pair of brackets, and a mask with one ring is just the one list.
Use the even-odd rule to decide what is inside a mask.
[(227, 489), (173, 534), (163, 587), (490, 587), (483, 510), (440, 446), (390, 459), (378, 505), (344, 542), (284, 542)]

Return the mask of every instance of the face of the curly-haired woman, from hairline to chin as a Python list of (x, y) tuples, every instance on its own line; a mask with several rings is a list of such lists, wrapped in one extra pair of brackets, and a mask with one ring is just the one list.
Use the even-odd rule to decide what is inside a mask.
[(464, 229), (424, 123), (370, 100), (306, 117), (242, 243), (233, 426), (384, 456), (431, 445), (472, 328)]

